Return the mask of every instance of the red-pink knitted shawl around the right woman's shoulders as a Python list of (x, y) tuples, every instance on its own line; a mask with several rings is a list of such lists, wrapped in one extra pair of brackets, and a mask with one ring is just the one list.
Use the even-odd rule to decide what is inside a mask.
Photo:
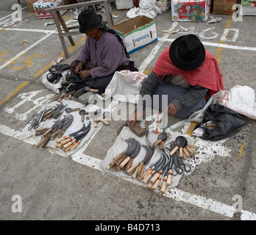
[(196, 68), (193, 71), (182, 71), (172, 64), (169, 57), (169, 48), (170, 46), (166, 51), (163, 51), (163, 53), (160, 54), (160, 57), (157, 59), (157, 63), (152, 70), (157, 76), (160, 76), (160, 78), (163, 79), (163, 76), (166, 75), (181, 74), (192, 86), (197, 84), (209, 89), (210, 96), (217, 93), (219, 90), (224, 90), (223, 76), (221, 71), (219, 71), (218, 62), (209, 51), (205, 50), (205, 60), (199, 68)]

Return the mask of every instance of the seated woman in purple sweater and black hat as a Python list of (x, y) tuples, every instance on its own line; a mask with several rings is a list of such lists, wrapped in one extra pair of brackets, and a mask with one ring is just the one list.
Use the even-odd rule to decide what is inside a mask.
[(68, 92), (76, 91), (79, 97), (90, 87), (104, 93), (115, 71), (135, 70), (131, 68), (129, 55), (121, 37), (102, 22), (102, 15), (93, 10), (83, 10), (78, 15), (79, 31), (87, 35), (85, 46), (72, 63), (74, 76)]

